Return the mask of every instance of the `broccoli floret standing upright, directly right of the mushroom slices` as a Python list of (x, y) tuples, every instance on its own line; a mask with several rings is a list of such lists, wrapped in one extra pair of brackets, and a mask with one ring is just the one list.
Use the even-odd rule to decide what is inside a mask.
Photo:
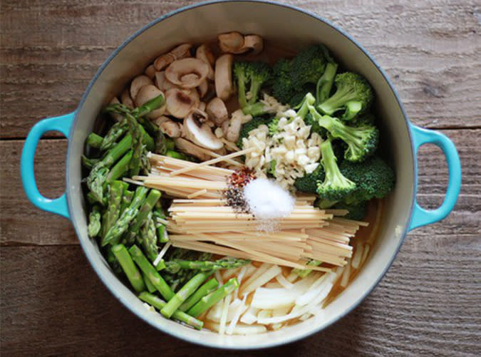
[[(234, 77), (237, 81), (239, 105), (244, 114), (252, 116), (264, 113), (264, 105), (259, 102), (259, 91), (271, 78), (271, 68), (264, 62), (234, 63)], [(247, 87), (249, 86), (249, 99)]]

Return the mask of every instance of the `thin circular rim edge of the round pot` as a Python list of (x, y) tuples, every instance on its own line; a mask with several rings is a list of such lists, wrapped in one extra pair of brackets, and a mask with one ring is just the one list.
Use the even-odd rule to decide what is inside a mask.
[[(395, 250), (393, 252), (393, 255), (391, 256), (391, 258), (389, 259), (389, 262), (388, 264), (386, 264), (386, 266), (383, 268), (383, 271), (381, 271), (381, 274), (378, 275), (378, 278), (376, 279), (376, 281), (374, 282), (374, 284), (371, 285), (370, 289), (368, 289), (368, 291), (366, 291), (365, 294), (363, 294), (362, 296), (359, 296), (358, 299), (356, 299), (356, 301), (353, 302), (353, 304), (351, 304), (350, 306), (348, 306), (348, 308), (343, 311), (342, 314), (340, 314), (336, 319), (332, 319), (331, 321), (326, 321), (325, 323), (323, 324), (319, 324), (319, 326), (316, 326), (315, 328), (311, 328), (309, 330), (307, 330), (306, 332), (304, 333), (300, 333), (298, 336), (294, 336), (294, 337), (291, 337), (291, 338), (286, 338), (285, 341), (282, 341), (282, 343), (270, 343), (268, 340), (266, 342), (262, 342), (262, 343), (258, 343), (257, 346), (252, 346), (252, 345), (245, 345), (245, 346), (219, 346), (219, 345), (213, 345), (212, 343), (207, 343), (207, 342), (204, 342), (202, 339), (198, 340), (198, 341), (190, 341), (190, 340), (187, 340), (185, 338), (185, 336), (182, 335), (182, 333), (177, 333), (177, 332), (174, 332), (174, 331), (168, 331), (167, 329), (165, 328), (161, 328), (160, 326), (157, 326), (157, 324), (154, 324), (152, 321), (150, 321), (150, 319), (147, 319), (145, 318), (145, 316), (142, 316), (140, 314), (137, 313), (137, 311), (135, 311), (134, 309), (132, 309), (132, 307), (130, 306), (130, 304), (128, 304), (128, 301), (126, 301), (123, 296), (120, 296), (120, 294), (118, 294), (118, 292), (116, 292), (113, 284), (110, 284), (110, 282), (108, 281), (108, 277), (107, 276), (103, 276), (100, 274), (100, 272), (98, 271), (98, 269), (95, 269), (94, 268), (94, 262), (93, 262), (93, 257), (89, 254), (88, 252), (88, 249), (86, 249), (86, 243), (83, 242), (82, 239), (80, 239), (80, 234), (78, 234), (78, 232), (80, 231), (80, 229), (78, 228), (78, 222), (76, 219), (73, 218), (73, 215), (71, 215), (71, 222), (73, 224), (73, 227), (76, 231), (76, 234), (77, 234), (77, 237), (79, 237), (79, 242), (81, 244), (81, 247), (83, 249), (83, 252), (84, 254), (86, 254), (86, 257), (88, 259), (88, 262), (90, 263), (90, 266), (93, 268), (93, 270), (95, 271), (95, 273), (98, 275), (98, 277), (100, 278), (100, 280), (103, 282), (103, 284), (108, 288), (108, 290), (110, 291), (110, 293), (113, 294), (113, 296), (115, 296), (115, 298), (117, 298), (129, 311), (133, 312), (133, 314), (135, 314), (135, 316), (137, 316), (138, 318), (142, 319), (143, 321), (145, 321), (145, 323), (149, 324), (150, 326), (154, 327), (154, 328), (157, 328), (159, 331), (161, 331), (162, 333), (167, 333), (169, 334), (170, 336), (174, 336), (176, 338), (179, 338), (180, 340), (182, 341), (186, 341), (186, 342), (189, 342), (189, 343), (195, 343), (195, 344), (198, 344), (200, 346), (206, 346), (206, 347), (210, 347), (210, 348), (226, 348), (226, 349), (232, 349), (232, 350), (250, 350), (250, 349), (261, 349), (261, 348), (271, 348), (271, 347), (274, 347), (274, 346), (281, 346), (281, 345), (284, 345), (284, 344), (287, 344), (287, 343), (292, 343), (294, 341), (299, 341), (303, 338), (306, 338), (308, 336), (311, 336), (311, 335), (314, 335), (314, 333), (318, 333), (322, 330), (324, 330), (325, 328), (331, 326), (332, 324), (335, 324), (337, 321), (339, 321), (340, 319), (343, 319), (344, 316), (346, 316), (347, 314), (349, 314), (351, 311), (353, 311), (353, 309), (356, 309), (356, 307), (361, 304), (361, 302), (366, 299), (366, 297), (371, 294), (371, 292), (376, 289), (376, 287), (378, 286), (379, 282), (381, 281), (381, 279), (383, 279), (383, 277), (386, 275), (386, 272), (388, 271), (389, 268), (391, 268), (391, 265), (393, 264), (394, 262), (394, 259), (395, 257), (397, 256), (399, 250), (400, 250), (400, 247), (401, 245), (403, 244), (404, 242), (404, 239), (405, 239), (405, 236), (406, 234), (408, 233), (408, 230), (409, 230), (409, 227), (410, 227), (410, 223), (413, 219), (413, 207), (414, 207), (414, 203), (415, 203), (415, 194), (416, 194), (416, 185), (417, 185), (417, 182), (416, 182), (416, 177), (417, 177), (417, 165), (415, 165), (415, 155), (414, 155), (414, 152), (415, 152), (415, 147), (414, 147), (414, 144), (413, 144), (413, 135), (411, 133), (411, 130), (410, 130), (410, 120), (408, 119), (408, 116), (406, 115), (405, 113), (405, 110), (404, 110), (404, 107), (403, 107), (403, 104), (399, 98), (399, 95), (397, 93), (397, 91), (395, 90), (394, 86), (393, 86), (393, 83), (391, 83), (391, 80), (388, 78), (387, 74), (385, 71), (383, 71), (383, 69), (381, 68), (381, 66), (378, 64), (378, 62), (376, 61), (376, 59), (373, 58), (373, 56), (371, 56), (370, 53), (368, 53), (368, 51), (360, 44), (358, 43), (358, 41), (356, 41), (351, 35), (349, 35), (346, 31), (344, 31), (343, 29), (341, 29), (340, 26), (337, 26), (336, 24), (333, 24), (331, 23), (331, 21), (325, 19), (324, 17), (322, 16), (319, 16), (317, 14), (314, 14), (313, 12), (311, 11), (307, 11), (307, 10), (304, 10), (304, 9), (300, 9), (299, 7), (297, 6), (293, 6), (293, 5), (289, 5), (289, 4), (283, 4), (283, 3), (279, 3), (279, 2), (275, 2), (275, 1), (271, 1), (271, 0), (210, 0), (210, 1), (203, 1), (201, 3), (198, 3), (198, 4), (192, 4), (192, 5), (188, 5), (188, 6), (183, 6), (179, 9), (175, 9), (174, 11), (170, 11), (169, 13), (165, 14), (165, 15), (162, 15), (160, 17), (158, 17), (157, 19), (151, 21), (149, 24), (143, 26), (143, 28), (139, 29), (138, 31), (135, 31), (135, 33), (133, 33), (133, 35), (129, 36), (122, 44), (120, 44), (120, 46), (118, 46), (118, 48), (115, 49), (115, 51), (113, 51), (113, 53), (110, 54), (110, 56), (108, 56), (108, 58), (103, 62), (103, 64), (100, 66), (100, 68), (98, 68), (98, 71), (95, 73), (95, 76), (93, 76), (92, 80), (90, 81), (90, 83), (88, 84), (85, 92), (83, 93), (83, 96), (81, 98), (81, 101), (78, 103), (78, 108), (76, 110), (76, 114), (75, 114), (75, 118), (73, 120), (73, 125), (71, 126), (71, 131), (68, 135), (69, 138), (72, 137), (72, 133), (73, 131), (75, 130), (76, 128), (76, 122), (78, 120), (78, 113), (79, 113), (79, 108), (82, 107), (83, 103), (85, 103), (86, 101), (86, 98), (88, 97), (89, 93), (90, 93), (90, 90), (92, 89), (93, 87), (93, 84), (95, 83), (95, 81), (97, 81), (98, 77), (102, 74), (103, 70), (110, 64), (110, 61), (113, 60), (113, 58), (115, 58), (115, 56), (118, 55), (118, 53), (120, 51), (123, 50), (123, 48), (125, 48), (125, 46), (127, 46), (128, 43), (130, 43), (130, 41), (133, 41), (135, 38), (137, 38), (141, 33), (143, 33), (144, 31), (150, 29), (150, 27), (152, 26), (155, 26), (157, 25), (158, 23), (160, 23), (161, 21), (164, 21), (165, 19), (169, 19), (170, 17), (172, 16), (175, 16), (177, 14), (180, 14), (182, 12), (185, 12), (185, 11), (190, 11), (192, 9), (197, 9), (197, 8), (200, 8), (202, 6), (210, 6), (212, 4), (218, 4), (218, 3), (233, 3), (233, 2), (243, 2), (243, 3), (252, 3), (252, 4), (269, 4), (271, 6), (279, 6), (279, 7), (283, 7), (283, 8), (286, 8), (286, 9), (289, 9), (291, 11), (296, 11), (296, 12), (300, 12), (301, 14), (305, 14), (305, 15), (308, 15), (308, 16), (311, 16), (313, 17), (314, 19), (318, 20), (318, 21), (321, 21), (323, 22), (324, 24), (326, 24), (327, 26), (330, 26), (332, 29), (338, 31), (338, 33), (341, 33), (341, 35), (346, 38), (347, 41), (351, 41), (351, 43), (353, 43), (354, 46), (356, 46), (357, 48), (359, 48), (368, 58), (369, 60), (371, 61), (371, 63), (373, 63), (373, 65), (376, 67), (376, 70), (381, 73), (381, 76), (383, 77), (384, 81), (386, 81), (386, 83), (388, 83), (388, 86), (389, 88), (391, 88), (391, 91), (393, 92), (393, 95), (395, 97), (395, 100), (396, 102), (398, 103), (399, 105), (399, 108), (401, 110), (401, 113), (403, 114), (403, 119), (405, 121), (405, 125), (406, 125), (406, 130), (408, 130), (408, 137), (409, 137), (409, 142), (410, 142), (410, 147), (411, 147), (411, 150), (410, 150), (410, 155), (411, 155), (411, 159), (413, 160), (413, 177), (412, 177), (412, 180), (413, 180), (413, 191), (411, 193), (411, 197), (410, 197), (410, 206), (409, 206), (409, 209), (408, 209), (408, 220), (405, 222), (405, 226), (403, 227), (403, 231), (400, 233), (400, 239), (399, 239), (399, 242), (398, 242), (398, 246), (395, 247)], [(71, 157), (71, 145), (72, 145), (72, 142), (71, 140), (68, 141), (68, 150), (67, 150), (67, 160), (66, 160), (66, 167), (69, 167), (69, 161), (70, 161), (70, 157)], [(67, 198), (67, 205), (68, 205), (68, 211), (69, 212), (73, 212), (73, 207), (72, 207), (72, 198), (71, 198), (71, 195), (70, 195), (70, 189), (69, 187), (71, 187), (70, 185), (70, 177), (69, 175), (66, 175), (66, 187), (67, 187), (67, 190), (66, 190), (66, 198)]]

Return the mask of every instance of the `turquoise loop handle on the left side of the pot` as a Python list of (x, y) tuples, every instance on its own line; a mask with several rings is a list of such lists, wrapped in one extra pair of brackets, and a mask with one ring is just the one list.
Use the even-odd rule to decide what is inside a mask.
[(25, 140), (24, 150), (21, 152), (20, 170), (21, 181), (24, 185), (26, 196), (30, 202), (36, 207), (47, 212), (60, 214), (63, 217), (70, 218), (68, 214), (67, 198), (65, 192), (61, 197), (51, 199), (43, 197), (35, 182), (35, 174), (33, 172), (33, 158), (38, 144), (38, 140), (48, 131), (58, 131), (68, 138), (68, 133), (75, 118), (75, 112), (61, 115), (55, 118), (47, 118), (33, 125), (29, 135)]

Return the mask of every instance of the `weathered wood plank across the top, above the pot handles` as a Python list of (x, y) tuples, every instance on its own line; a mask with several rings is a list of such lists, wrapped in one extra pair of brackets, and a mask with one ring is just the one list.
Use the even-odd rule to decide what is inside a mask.
[[(37, 120), (76, 108), (113, 48), (156, 17), (195, 2), (2, 1), (0, 137), (22, 138)], [(481, 15), (476, 1), (291, 4), (324, 16), (358, 39), (393, 79), (413, 122), (431, 128), (479, 127)], [(35, 110), (26, 114), (25, 108)]]

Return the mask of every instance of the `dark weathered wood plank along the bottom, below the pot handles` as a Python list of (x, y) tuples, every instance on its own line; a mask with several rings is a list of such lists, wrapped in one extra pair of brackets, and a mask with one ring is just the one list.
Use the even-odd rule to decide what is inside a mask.
[(4, 247), (2, 353), (312, 356), (312, 351), (319, 351), (316, 356), (479, 356), (481, 271), (473, 267), (480, 264), (481, 252), (461, 254), (447, 248), (438, 255), (411, 254), (405, 247), (381, 284), (353, 313), (326, 331), (267, 351), (214, 351), (160, 333), (113, 298), (78, 246)]

